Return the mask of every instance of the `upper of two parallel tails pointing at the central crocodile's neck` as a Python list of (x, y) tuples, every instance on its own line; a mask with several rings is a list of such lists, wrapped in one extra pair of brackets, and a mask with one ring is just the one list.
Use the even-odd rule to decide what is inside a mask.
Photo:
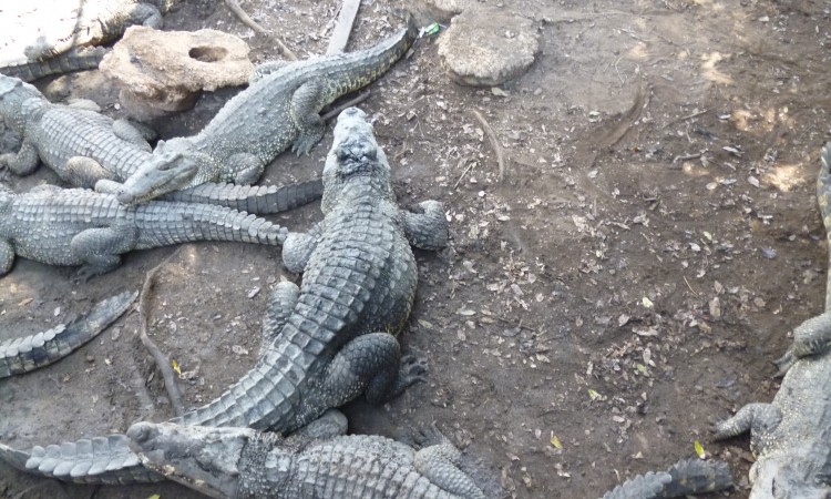
[(280, 213), (319, 200), (324, 195), (320, 180), (289, 185), (235, 185), (205, 183), (174, 191), (164, 196), (167, 201), (204, 203), (226, 206), (257, 215)]

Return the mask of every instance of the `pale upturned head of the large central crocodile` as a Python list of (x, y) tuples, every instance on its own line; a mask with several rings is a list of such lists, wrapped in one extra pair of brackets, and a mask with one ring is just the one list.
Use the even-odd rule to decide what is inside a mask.
[(379, 196), (391, 197), (390, 164), (376, 142), (367, 114), (357, 108), (343, 110), (334, 135), (324, 166), (324, 212), (353, 182), (371, 187)]

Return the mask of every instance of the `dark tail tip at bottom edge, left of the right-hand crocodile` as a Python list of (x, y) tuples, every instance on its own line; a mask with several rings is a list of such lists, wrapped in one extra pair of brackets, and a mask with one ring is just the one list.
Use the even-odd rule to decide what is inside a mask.
[(649, 471), (626, 480), (603, 499), (668, 499), (732, 487), (727, 462), (681, 459), (666, 471)]

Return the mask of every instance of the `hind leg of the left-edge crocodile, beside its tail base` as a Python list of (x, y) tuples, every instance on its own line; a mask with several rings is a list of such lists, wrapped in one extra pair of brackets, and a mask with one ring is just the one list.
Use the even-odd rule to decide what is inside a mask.
[(85, 281), (121, 265), (121, 254), (135, 247), (137, 231), (129, 227), (88, 228), (72, 237), (70, 248), (85, 264), (79, 277)]

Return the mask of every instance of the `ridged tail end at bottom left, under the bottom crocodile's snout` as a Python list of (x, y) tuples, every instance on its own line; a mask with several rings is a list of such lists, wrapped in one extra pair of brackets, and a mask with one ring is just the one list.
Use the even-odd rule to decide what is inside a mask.
[(73, 442), (35, 446), (29, 451), (0, 444), (0, 459), (31, 475), (76, 483), (127, 485), (165, 478), (142, 466), (125, 435), (84, 438)]

